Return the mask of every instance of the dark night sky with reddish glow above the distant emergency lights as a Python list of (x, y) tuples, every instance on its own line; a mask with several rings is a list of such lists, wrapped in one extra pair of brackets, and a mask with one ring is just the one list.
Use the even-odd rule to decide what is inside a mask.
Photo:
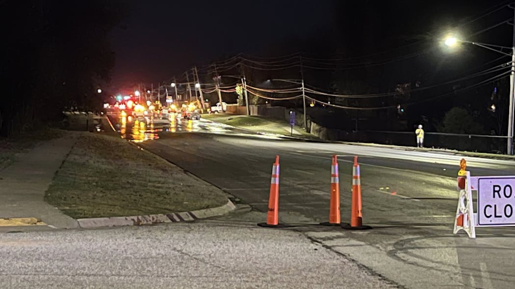
[(333, 13), (333, 1), (134, 1), (112, 32), (113, 86), (158, 82), (285, 38), (310, 38), (330, 29)]

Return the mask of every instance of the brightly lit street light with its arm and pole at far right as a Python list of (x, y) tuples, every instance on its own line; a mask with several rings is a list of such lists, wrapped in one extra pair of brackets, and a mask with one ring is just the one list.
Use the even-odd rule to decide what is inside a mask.
[[(515, 11), (515, 10), (514, 10)], [(515, 13), (515, 12), (514, 12)], [(495, 51), (497, 53), (501, 53), (506, 56), (511, 57), (510, 66), (511, 66), (511, 73), (510, 73), (510, 106), (508, 109), (508, 141), (507, 141), (507, 154), (513, 155), (513, 104), (514, 104), (514, 89), (515, 89), (515, 26), (513, 26), (513, 42), (511, 47), (506, 46), (500, 46), (500, 45), (493, 45), (493, 44), (486, 44), (486, 43), (479, 43), (479, 42), (471, 42), (471, 41), (465, 41), (457, 39), (456, 37), (450, 36), (447, 37), (444, 40), (445, 45), (447, 46), (456, 46), (456, 44), (460, 43), (470, 43), (472, 45), (476, 45), (479, 47), (486, 48), (488, 50)], [(496, 49), (497, 48), (497, 49)], [(499, 50), (500, 49), (511, 49), (511, 53), (506, 53), (504, 51)]]

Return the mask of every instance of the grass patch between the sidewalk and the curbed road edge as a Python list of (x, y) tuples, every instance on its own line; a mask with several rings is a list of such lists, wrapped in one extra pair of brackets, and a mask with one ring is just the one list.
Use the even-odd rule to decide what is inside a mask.
[(45, 201), (79, 219), (212, 208), (227, 195), (119, 136), (83, 133)]

